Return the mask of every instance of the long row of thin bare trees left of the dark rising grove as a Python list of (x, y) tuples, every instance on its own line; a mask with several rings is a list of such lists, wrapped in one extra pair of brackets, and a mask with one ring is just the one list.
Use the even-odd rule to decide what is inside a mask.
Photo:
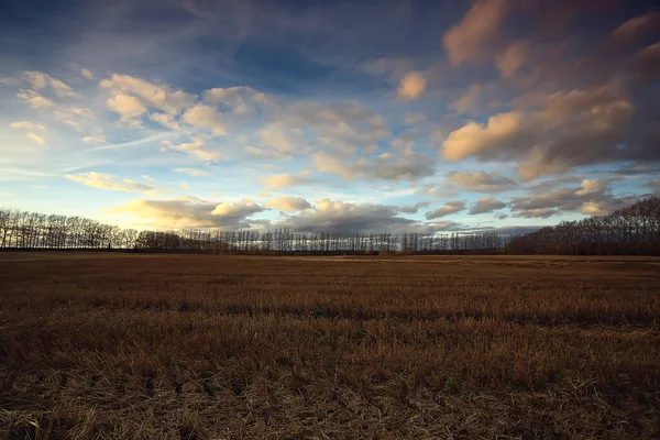
[(81, 217), (0, 209), (0, 248), (216, 254), (496, 253), (495, 232), (422, 234), (273, 231), (136, 231)]

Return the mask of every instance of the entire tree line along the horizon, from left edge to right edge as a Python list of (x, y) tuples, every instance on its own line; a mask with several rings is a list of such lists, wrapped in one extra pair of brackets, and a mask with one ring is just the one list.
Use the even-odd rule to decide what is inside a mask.
[(660, 255), (660, 199), (563, 221), (525, 235), (493, 231), (425, 234), (272, 231), (136, 231), (81, 217), (0, 209), (0, 248), (131, 250), (216, 254), (564, 254)]

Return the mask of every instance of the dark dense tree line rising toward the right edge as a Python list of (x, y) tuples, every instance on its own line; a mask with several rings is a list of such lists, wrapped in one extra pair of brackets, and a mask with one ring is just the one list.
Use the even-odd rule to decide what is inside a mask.
[(517, 237), (507, 243), (514, 254), (660, 255), (660, 198), (649, 197), (610, 213)]

